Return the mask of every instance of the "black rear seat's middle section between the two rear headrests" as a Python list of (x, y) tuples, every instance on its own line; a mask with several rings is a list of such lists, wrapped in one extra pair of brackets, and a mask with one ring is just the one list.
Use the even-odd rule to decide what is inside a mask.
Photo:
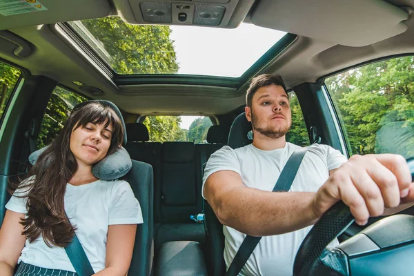
[[(196, 224), (190, 215), (201, 213), (201, 170), (192, 142), (164, 142), (161, 150), (161, 204), (155, 212), (161, 220), (155, 237), (156, 248), (164, 242), (204, 243), (204, 224)], [(159, 210), (157, 210), (159, 208)]]

